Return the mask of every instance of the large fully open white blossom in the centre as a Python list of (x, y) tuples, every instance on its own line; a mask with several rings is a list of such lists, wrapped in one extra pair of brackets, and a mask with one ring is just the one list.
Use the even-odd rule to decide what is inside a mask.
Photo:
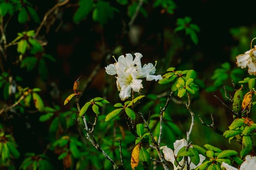
[(153, 75), (156, 68), (152, 63), (144, 64), (141, 67), (141, 57), (142, 54), (136, 52), (133, 60), (132, 54), (128, 53), (125, 56), (119, 56), (116, 63), (105, 67), (107, 74), (117, 75), (117, 87), (122, 101), (131, 96), (132, 90), (139, 92), (143, 88), (141, 78), (146, 78), (147, 81), (162, 79), (161, 75)]

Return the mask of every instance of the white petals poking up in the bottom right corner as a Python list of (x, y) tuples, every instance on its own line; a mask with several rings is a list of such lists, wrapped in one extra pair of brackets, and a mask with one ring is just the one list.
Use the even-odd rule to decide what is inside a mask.
[[(225, 162), (222, 162), (221, 168), (225, 168), (226, 170), (238, 170)], [(256, 156), (246, 155), (245, 161), (241, 164), (239, 170), (256, 170)]]

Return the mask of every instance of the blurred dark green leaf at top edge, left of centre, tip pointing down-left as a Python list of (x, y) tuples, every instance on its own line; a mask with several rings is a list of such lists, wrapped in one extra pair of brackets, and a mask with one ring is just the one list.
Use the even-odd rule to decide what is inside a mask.
[(82, 19), (86, 18), (92, 11), (93, 6), (93, 0), (79, 0), (79, 8), (73, 17), (74, 22), (79, 23)]

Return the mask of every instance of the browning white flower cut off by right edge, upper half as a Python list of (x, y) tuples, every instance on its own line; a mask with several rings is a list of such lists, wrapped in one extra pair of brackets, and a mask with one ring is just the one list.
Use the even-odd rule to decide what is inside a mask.
[(236, 56), (236, 65), (241, 68), (248, 67), (248, 73), (256, 75), (256, 46), (244, 54)]

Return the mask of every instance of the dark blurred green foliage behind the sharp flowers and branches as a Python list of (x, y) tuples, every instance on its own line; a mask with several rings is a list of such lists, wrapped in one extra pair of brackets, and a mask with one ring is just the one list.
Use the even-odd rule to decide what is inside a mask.
[[(199, 92), (193, 97), (192, 109), (207, 124), (212, 123), (213, 114), (215, 126), (222, 132), (227, 130), (233, 116), (213, 93), (232, 106), (225, 98), (223, 85), (233, 96), (232, 81), (238, 89), (238, 81), (250, 77), (246, 70), (236, 67), (235, 59), (250, 49), (251, 39), (256, 36), (256, 22), (251, 17), (254, 9), (249, 2), (0, 0), (0, 109), (22, 96), (26, 99), (0, 113), (0, 131), (13, 137), (8, 140), (19, 152), (11, 147), (0, 160), (1, 169), (111, 169), (74, 121), (78, 118), (75, 102), (65, 106), (63, 102), (73, 93), (72, 85), (79, 76), (80, 105), (94, 97), (118, 102), (116, 79), (106, 75), (104, 68), (114, 63), (112, 55), (118, 58), (140, 52), (142, 63), (158, 61), (157, 74), (162, 75), (169, 67), (194, 69)], [(147, 97), (136, 109), (146, 118), (151, 112), (150, 126), (158, 134), (159, 106), (164, 106), (170, 86), (156, 82), (143, 85), (142, 94)], [(122, 147), (127, 149), (123, 149), (124, 165), (129, 169), (136, 137), (122, 116), (104, 121), (113, 109), (110, 105), (102, 108), (95, 137), (116, 161), (121, 138)], [(93, 122), (94, 114), (85, 116)], [(190, 123), (184, 101), (174, 98), (164, 113), (163, 145), (172, 148), (176, 139), (185, 137)], [(229, 144), (198, 117), (191, 140), (221, 149), (238, 151), (241, 147), (235, 142)]]

